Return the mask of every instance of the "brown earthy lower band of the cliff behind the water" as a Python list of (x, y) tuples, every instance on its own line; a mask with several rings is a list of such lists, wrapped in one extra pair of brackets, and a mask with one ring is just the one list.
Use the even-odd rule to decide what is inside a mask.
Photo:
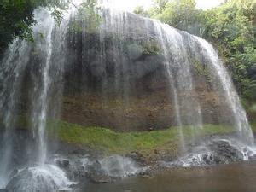
[[(115, 131), (147, 131), (177, 125), (170, 84), (165, 78), (154, 79), (155, 73), (138, 79), (137, 89), (127, 100), (123, 96), (104, 96), (97, 90), (64, 95), (61, 119)], [(196, 92), (183, 92), (179, 96), (198, 97), (204, 124), (229, 124), (231, 117), (224, 98), (209, 90), (203, 78), (198, 77), (196, 83), (200, 85)]]

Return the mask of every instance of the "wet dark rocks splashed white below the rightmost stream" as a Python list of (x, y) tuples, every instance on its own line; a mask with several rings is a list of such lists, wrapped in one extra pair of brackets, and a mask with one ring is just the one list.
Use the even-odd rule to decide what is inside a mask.
[(198, 148), (173, 161), (171, 166), (207, 166), (229, 164), (255, 158), (252, 148), (234, 140), (215, 139), (199, 143)]

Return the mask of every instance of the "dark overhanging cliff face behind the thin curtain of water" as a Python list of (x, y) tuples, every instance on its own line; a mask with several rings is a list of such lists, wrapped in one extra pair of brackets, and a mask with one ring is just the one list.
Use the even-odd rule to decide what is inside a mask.
[[(75, 18), (67, 34), (53, 36), (64, 35), (65, 43), (61, 50), (53, 47), (51, 60), (61, 66), (50, 67), (49, 102), (61, 108), (49, 113), (61, 111), (67, 122), (116, 131), (165, 129), (180, 124), (177, 115), (183, 125), (194, 125), (195, 113), (205, 124), (230, 124), (230, 107), (213, 89), (218, 81), (191, 35), (170, 27), (168, 37), (177, 37), (168, 48), (161, 34), (166, 26), (154, 20), (103, 10), (101, 25), (88, 32), (86, 25), (73, 30)], [(43, 59), (32, 49), (20, 91), (21, 113), (31, 110), (26, 103)], [(193, 105), (201, 112), (191, 110)]]

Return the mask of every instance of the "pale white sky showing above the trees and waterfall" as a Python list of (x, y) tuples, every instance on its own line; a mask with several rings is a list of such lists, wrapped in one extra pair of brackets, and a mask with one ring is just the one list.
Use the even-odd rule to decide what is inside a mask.
[[(74, 3), (80, 3), (82, 0), (73, 0)], [(100, 0), (101, 1), (101, 0)], [(133, 11), (137, 6), (142, 5), (143, 7), (150, 8), (153, 0), (102, 0), (104, 3), (111, 4), (111, 7), (115, 9), (122, 9), (125, 11)], [(201, 9), (209, 9), (218, 6), (224, 0), (195, 0), (197, 3), (196, 7)]]

